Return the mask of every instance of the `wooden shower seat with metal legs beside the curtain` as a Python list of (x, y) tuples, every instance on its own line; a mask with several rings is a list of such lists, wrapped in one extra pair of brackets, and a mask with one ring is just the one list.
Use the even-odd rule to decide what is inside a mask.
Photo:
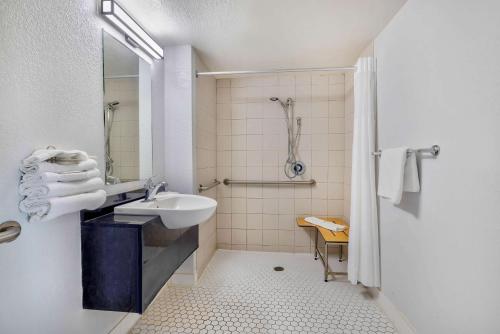
[[(335, 224), (348, 226), (345, 221), (341, 218), (333, 218), (326, 217), (321, 218), (326, 221), (330, 221)], [(339, 247), (339, 262), (342, 262), (344, 259), (342, 258), (343, 247), (349, 244), (349, 227), (347, 227), (344, 231), (341, 232), (333, 232), (326, 228), (316, 226), (310, 224), (304, 220), (304, 217), (297, 217), (297, 225), (305, 228), (314, 228), (315, 229), (315, 237), (314, 237), (314, 259), (321, 259), (323, 263), (325, 282), (328, 282), (328, 275), (346, 275), (346, 272), (334, 272), (329, 270), (328, 266), (328, 247), (329, 246), (338, 246)], [(323, 254), (321, 253), (318, 247), (318, 235), (321, 234), (321, 237), (325, 241)]]

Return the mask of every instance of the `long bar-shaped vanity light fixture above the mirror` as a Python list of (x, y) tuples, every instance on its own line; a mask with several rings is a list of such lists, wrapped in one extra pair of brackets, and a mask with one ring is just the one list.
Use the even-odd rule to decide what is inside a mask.
[(125, 34), (132, 47), (138, 47), (154, 59), (163, 58), (163, 49), (115, 0), (102, 0), (101, 14)]

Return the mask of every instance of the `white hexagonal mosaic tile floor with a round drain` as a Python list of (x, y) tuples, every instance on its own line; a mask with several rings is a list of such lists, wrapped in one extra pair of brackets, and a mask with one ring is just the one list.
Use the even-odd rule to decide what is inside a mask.
[[(276, 272), (274, 266), (285, 270)], [(360, 286), (323, 282), (309, 254), (218, 250), (197, 286), (167, 285), (132, 329), (160, 333), (396, 333)]]

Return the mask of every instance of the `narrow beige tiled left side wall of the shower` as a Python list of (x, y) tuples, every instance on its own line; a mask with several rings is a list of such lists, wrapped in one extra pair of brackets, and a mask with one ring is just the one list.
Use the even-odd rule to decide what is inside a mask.
[[(196, 79), (196, 178), (199, 184), (210, 184), (216, 177), (216, 84), (214, 78)], [(216, 198), (217, 191), (212, 188), (201, 193)], [(199, 248), (196, 252), (196, 271), (202, 274), (212, 258), (216, 247), (216, 219), (214, 215), (208, 222), (200, 225), (198, 234)]]

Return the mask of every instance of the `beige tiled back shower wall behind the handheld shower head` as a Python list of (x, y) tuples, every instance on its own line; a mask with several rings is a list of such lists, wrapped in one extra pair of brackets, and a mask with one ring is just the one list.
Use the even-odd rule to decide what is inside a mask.
[(310, 252), (299, 215), (344, 216), (344, 74), (300, 73), (217, 80), (217, 177), (286, 180), (287, 131), (272, 96), (295, 101), (302, 117), (298, 157), (317, 184), (224, 186), (217, 191), (217, 246)]

